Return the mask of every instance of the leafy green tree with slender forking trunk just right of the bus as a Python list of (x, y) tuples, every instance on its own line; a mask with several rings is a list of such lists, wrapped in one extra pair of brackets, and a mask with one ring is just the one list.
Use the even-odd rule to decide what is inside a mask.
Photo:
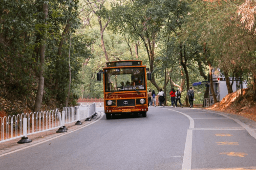
[[(110, 11), (110, 28), (114, 33), (129, 34), (134, 40), (140, 38), (143, 43), (150, 71), (154, 73), (156, 58), (155, 47), (163, 27), (172, 27), (175, 31), (181, 23), (186, 4), (180, 1), (133, 1), (116, 3)], [(153, 74), (151, 83), (160, 90)]]

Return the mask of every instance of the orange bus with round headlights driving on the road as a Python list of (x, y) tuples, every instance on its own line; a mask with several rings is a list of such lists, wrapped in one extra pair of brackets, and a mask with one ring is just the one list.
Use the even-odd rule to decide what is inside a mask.
[(97, 73), (101, 80), (103, 73), (104, 111), (106, 119), (116, 114), (136, 113), (146, 117), (148, 111), (146, 81), (151, 80), (146, 66), (140, 60), (107, 62), (106, 67)]

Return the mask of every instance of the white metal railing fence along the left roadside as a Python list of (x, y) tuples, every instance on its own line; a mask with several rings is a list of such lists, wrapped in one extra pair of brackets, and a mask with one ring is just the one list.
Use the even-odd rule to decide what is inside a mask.
[[(98, 108), (97, 111), (102, 111), (102, 107)], [(65, 124), (92, 117), (95, 112), (96, 105), (94, 103), (87, 106), (64, 107), (62, 114), (56, 109), (0, 117), (0, 143), (24, 136), (27, 137), (27, 135), (35, 133), (57, 129), (65, 126)]]

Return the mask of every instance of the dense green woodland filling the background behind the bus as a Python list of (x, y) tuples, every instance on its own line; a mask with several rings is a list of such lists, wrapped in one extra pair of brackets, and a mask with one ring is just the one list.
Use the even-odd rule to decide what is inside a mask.
[[(148, 90), (188, 90), (220, 68), (246, 80), (256, 100), (254, 17), (247, 0), (1, 0), (1, 98), (36, 111), (36, 103), (102, 98), (96, 72), (136, 59), (153, 73)], [(196, 92), (202, 103), (205, 87)]]

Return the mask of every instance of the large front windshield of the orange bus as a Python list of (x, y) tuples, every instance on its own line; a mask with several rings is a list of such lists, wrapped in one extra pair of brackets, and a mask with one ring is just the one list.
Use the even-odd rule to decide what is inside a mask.
[(145, 90), (144, 67), (105, 69), (105, 91)]

